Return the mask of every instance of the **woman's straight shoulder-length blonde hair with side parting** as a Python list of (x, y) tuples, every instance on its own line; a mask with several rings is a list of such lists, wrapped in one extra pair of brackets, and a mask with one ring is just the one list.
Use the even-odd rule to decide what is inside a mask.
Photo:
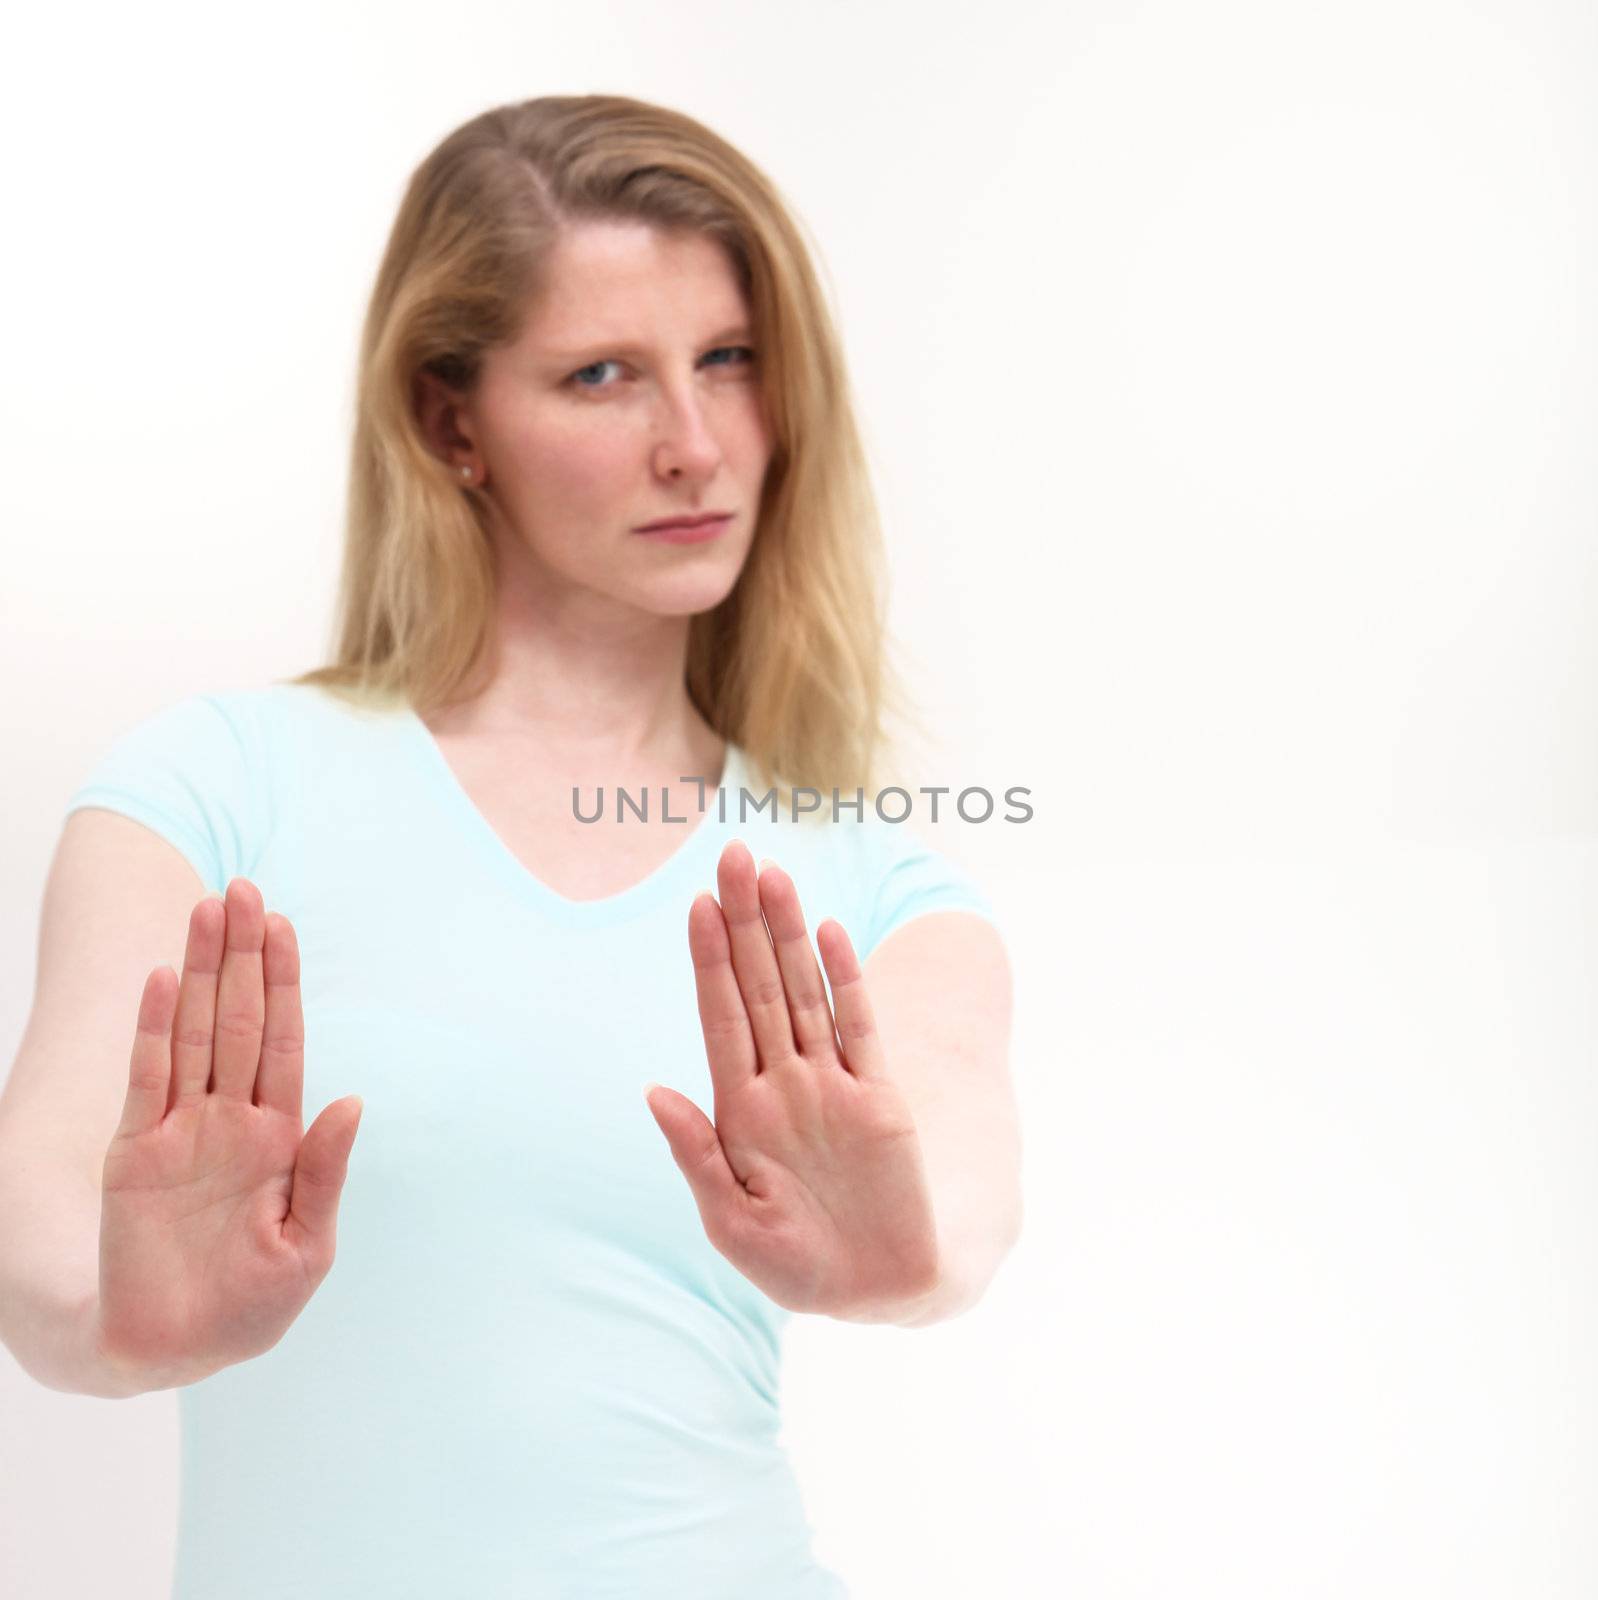
[(427, 445), (413, 386), (427, 370), (470, 389), (560, 230), (611, 218), (717, 238), (753, 318), (773, 450), (739, 579), (689, 619), (689, 698), (784, 806), (792, 784), (875, 795), (885, 714), (920, 723), (886, 661), (877, 504), (805, 242), (725, 139), (616, 94), (494, 107), (411, 176), (362, 331), (333, 659), (286, 682), (419, 715), (486, 685), (488, 514)]

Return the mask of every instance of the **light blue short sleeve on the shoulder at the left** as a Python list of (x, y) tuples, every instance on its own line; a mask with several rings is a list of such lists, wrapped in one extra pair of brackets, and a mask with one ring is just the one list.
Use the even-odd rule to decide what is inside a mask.
[(226, 893), (250, 877), (261, 842), (261, 786), (251, 771), (248, 723), (238, 706), (194, 694), (118, 734), (67, 800), (120, 811), (154, 829)]

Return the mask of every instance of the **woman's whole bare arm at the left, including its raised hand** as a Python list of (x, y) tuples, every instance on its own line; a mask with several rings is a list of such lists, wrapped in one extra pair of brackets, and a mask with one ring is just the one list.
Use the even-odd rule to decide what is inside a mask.
[[(304, 1126), (299, 947), (248, 878), (192, 899), (165, 840), (77, 821), (0, 1099), (0, 1197), (21, 1222), (0, 1240), (0, 1336), (46, 1386), (115, 1397), (283, 1338), (333, 1267), (360, 1102)], [(174, 923), (181, 976), (150, 965)]]

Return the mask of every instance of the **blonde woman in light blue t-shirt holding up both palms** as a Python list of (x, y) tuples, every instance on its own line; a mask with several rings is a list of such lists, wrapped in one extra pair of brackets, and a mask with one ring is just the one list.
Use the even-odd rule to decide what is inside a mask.
[(843, 1594), (782, 1328), (955, 1315), (1021, 1218), (1005, 950), (878, 811), (894, 699), (771, 182), (616, 96), (451, 133), (334, 661), (74, 794), (0, 1104), (6, 1342), (179, 1389), (179, 1600)]

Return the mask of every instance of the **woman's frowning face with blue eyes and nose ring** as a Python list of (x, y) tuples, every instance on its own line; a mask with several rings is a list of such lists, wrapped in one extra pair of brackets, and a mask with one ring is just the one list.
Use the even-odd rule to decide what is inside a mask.
[[(771, 440), (749, 304), (721, 246), (641, 222), (565, 234), (517, 339), (488, 352), (448, 459), (496, 507), (528, 594), (657, 616), (718, 605), (749, 554)], [(694, 544), (638, 533), (731, 512)]]

